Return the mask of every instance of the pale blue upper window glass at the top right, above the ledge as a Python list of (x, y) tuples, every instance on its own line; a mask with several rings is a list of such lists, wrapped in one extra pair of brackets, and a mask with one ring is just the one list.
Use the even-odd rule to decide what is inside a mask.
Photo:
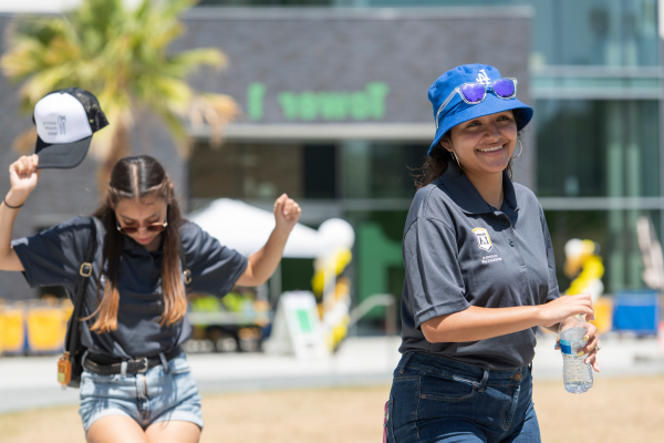
[(335, 0), (356, 7), (531, 6), (532, 63), (657, 65), (657, 0)]

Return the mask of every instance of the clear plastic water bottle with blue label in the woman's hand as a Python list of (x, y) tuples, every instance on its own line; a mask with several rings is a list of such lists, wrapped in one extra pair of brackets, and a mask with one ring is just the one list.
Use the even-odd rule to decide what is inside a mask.
[(564, 389), (573, 394), (582, 394), (592, 388), (592, 368), (585, 363), (588, 354), (577, 357), (585, 346), (583, 337), (587, 323), (580, 315), (568, 317), (560, 323), (560, 352), (562, 353), (562, 379)]

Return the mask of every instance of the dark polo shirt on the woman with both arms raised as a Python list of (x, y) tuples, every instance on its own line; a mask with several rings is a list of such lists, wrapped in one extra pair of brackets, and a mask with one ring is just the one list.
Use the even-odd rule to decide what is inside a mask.
[[(97, 308), (97, 281), (102, 262), (105, 229), (92, 217), (75, 217), (32, 237), (12, 241), (30, 287), (62, 286), (70, 298), (74, 293), (79, 270), (90, 241), (91, 224), (97, 227), (97, 250), (92, 278), (83, 302), (83, 317)], [(191, 271), (190, 292), (224, 296), (232, 289), (247, 267), (247, 258), (226, 248), (198, 225), (184, 222), (179, 228), (187, 268)], [(81, 341), (92, 352), (117, 358), (154, 357), (169, 352), (191, 332), (187, 317), (172, 326), (159, 326), (164, 309), (159, 250), (148, 251), (123, 236), (118, 280), (120, 307), (117, 329), (107, 333), (91, 332), (93, 320), (80, 322)], [(104, 293), (101, 279), (98, 296)]]

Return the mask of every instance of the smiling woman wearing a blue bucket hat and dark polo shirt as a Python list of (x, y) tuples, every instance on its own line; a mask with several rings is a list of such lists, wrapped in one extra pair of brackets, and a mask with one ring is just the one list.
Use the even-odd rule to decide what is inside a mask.
[[(593, 310), (587, 293), (559, 298), (542, 208), (511, 181), (533, 112), (516, 79), (485, 64), (446, 72), (429, 100), (436, 136), (404, 229), (403, 357), (384, 440), (539, 442), (535, 330)], [(582, 351), (599, 371), (595, 331)]]

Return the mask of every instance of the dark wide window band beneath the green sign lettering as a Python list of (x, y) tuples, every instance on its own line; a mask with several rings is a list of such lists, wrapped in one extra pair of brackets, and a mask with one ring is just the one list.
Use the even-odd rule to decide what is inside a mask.
[(273, 199), (282, 193), (300, 199), (412, 198), (413, 169), (422, 166), (427, 148), (365, 141), (230, 142), (218, 150), (197, 143), (189, 161), (189, 190), (193, 198), (204, 199)]

